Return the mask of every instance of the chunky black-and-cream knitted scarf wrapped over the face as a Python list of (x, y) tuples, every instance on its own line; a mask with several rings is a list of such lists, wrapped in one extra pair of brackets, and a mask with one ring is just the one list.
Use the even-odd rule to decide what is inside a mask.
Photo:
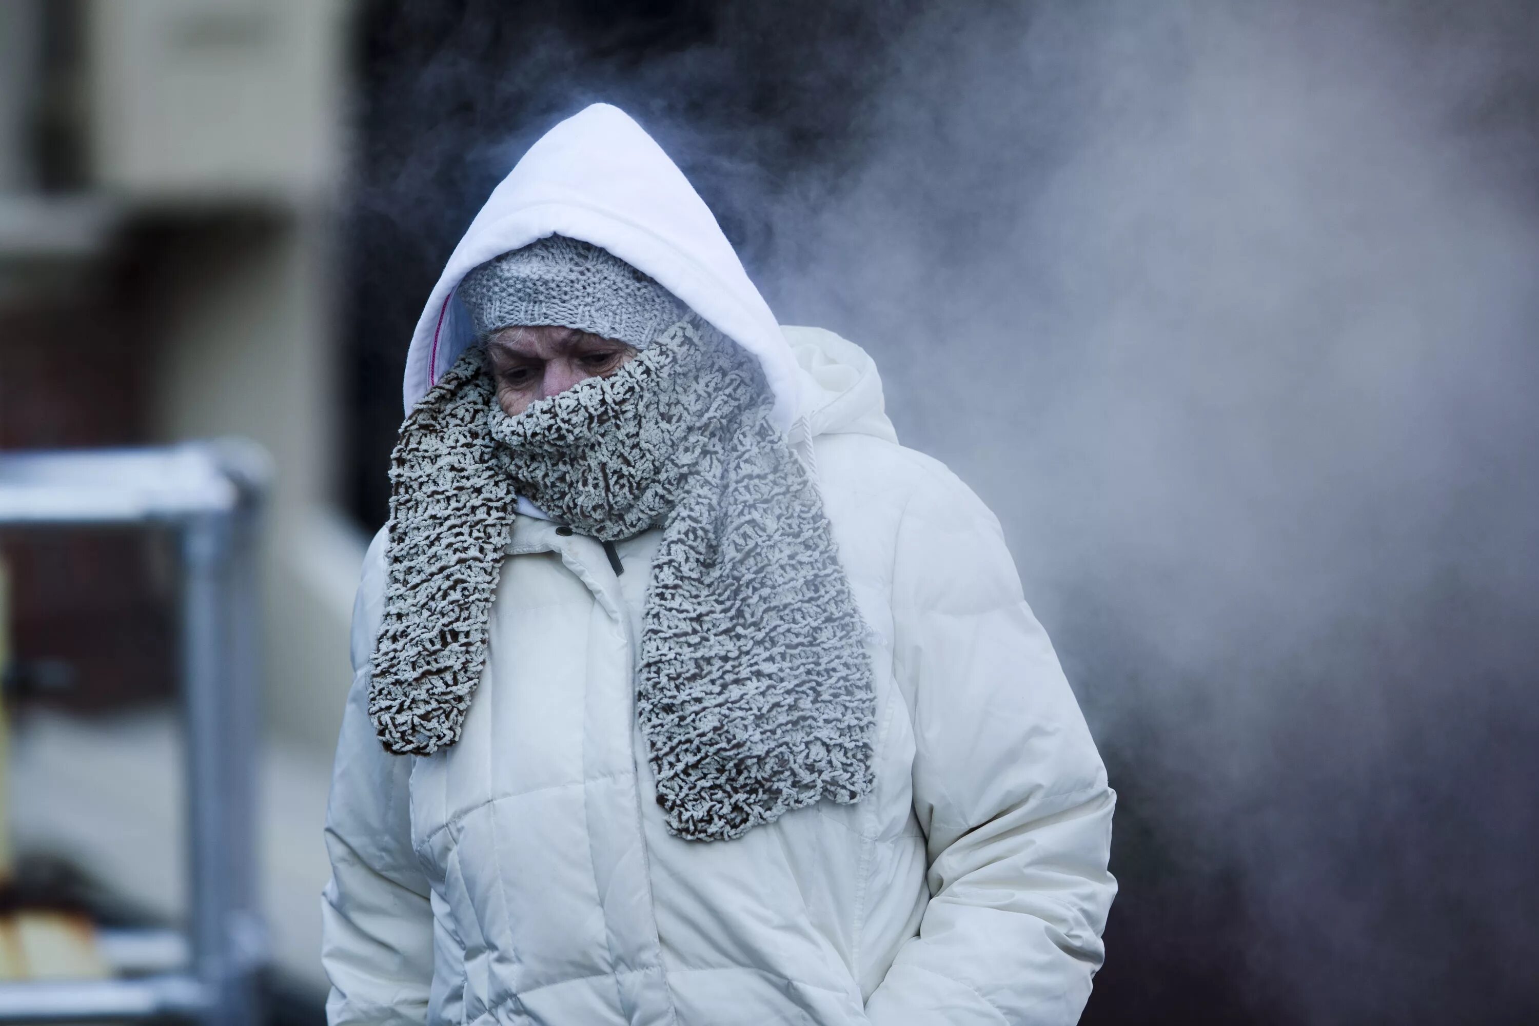
[(391, 468), (369, 715), (385, 748), (459, 740), (517, 495), (602, 541), (662, 526), (636, 715), (668, 829), (740, 837), (873, 786), (865, 626), (754, 358), (683, 320), (606, 378), (508, 417), (471, 351)]

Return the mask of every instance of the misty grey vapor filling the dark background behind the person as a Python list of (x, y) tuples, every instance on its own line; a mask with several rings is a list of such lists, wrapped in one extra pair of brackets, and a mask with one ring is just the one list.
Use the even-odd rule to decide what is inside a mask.
[(999, 514), (1122, 792), (1087, 1021), (1531, 1021), (1539, 9), (722, 17), (637, 65), (436, 55), (386, 86), (420, 117), (466, 77), (520, 98), (432, 122), (360, 206), (452, 243), (606, 98), (782, 321), (876, 357), (900, 438)]

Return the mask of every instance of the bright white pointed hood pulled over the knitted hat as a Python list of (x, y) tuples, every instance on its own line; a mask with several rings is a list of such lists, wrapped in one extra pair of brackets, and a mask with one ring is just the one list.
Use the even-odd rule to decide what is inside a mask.
[(474, 340), (469, 315), (456, 298), (463, 277), (546, 235), (608, 249), (754, 354), (776, 395), (776, 426), (790, 432), (805, 375), (774, 314), (683, 172), (640, 125), (608, 103), (540, 137), (454, 248), (406, 352), (402, 398), (408, 414)]

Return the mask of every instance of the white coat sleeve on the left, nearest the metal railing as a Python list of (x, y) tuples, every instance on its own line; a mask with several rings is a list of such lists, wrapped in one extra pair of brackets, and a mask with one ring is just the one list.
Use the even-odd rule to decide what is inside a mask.
[(352, 689), (326, 806), (331, 881), (322, 895), (322, 963), (331, 978), (331, 1026), (423, 1023), (432, 983), (432, 908), (411, 848), (411, 758), (388, 754), (368, 715), (383, 549), (380, 532), (352, 611)]

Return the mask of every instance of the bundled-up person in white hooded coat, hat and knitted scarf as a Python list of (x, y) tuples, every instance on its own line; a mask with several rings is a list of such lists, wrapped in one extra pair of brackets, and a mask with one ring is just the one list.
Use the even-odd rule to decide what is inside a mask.
[(332, 1023), (1073, 1023), (1114, 795), (994, 517), (625, 114), (406, 357), (326, 841)]

